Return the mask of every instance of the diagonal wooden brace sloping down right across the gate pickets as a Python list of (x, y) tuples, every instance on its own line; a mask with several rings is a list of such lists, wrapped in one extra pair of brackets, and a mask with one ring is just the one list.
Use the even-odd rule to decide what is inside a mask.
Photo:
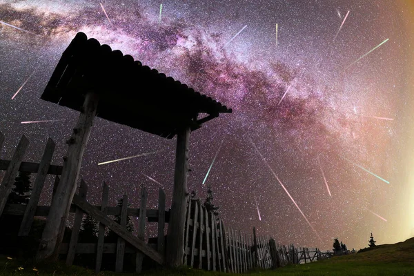
[(88, 204), (88, 202), (83, 201), (78, 197), (78, 195), (75, 195), (73, 197), (73, 203), (76, 204), (76, 206), (82, 208), (86, 213), (92, 215), (97, 221), (108, 226), (108, 228), (119, 235), (119, 237), (122, 237), (126, 240), (126, 242), (130, 243), (138, 250), (141, 250), (142, 253), (153, 259), (155, 262), (157, 262), (157, 264), (164, 264), (164, 257), (159, 254), (157, 250), (150, 248), (150, 246), (146, 245), (145, 242), (137, 239), (137, 237), (129, 233), (128, 230), (122, 228), (119, 224), (117, 224), (117, 222), (107, 217), (99, 209)]

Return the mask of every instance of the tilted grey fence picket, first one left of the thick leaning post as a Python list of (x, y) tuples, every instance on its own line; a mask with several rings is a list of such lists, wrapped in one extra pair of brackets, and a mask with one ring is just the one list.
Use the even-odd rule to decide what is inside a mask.
[(46, 175), (48, 173), (50, 161), (52, 161), (54, 151), (55, 142), (52, 139), (48, 138), (46, 148), (43, 152), (43, 156), (41, 157), (39, 170), (37, 171), (36, 179), (34, 180), (32, 193), (30, 193), (30, 199), (28, 205), (26, 206), (26, 212), (24, 213), (23, 219), (21, 221), (19, 229), (19, 236), (21, 237), (29, 235), (30, 228), (32, 228), (34, 213), (36, 213), (41, 190), (43, 189), (43, 184), (45, 183)]

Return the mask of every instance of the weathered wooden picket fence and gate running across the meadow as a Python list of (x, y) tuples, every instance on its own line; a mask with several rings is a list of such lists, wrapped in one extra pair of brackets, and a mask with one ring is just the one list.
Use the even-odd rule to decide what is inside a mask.
[[(0, 132), (0, 150), (4, 137)], [(52, 200), (59, 184), (62, 166), (51, 165), (55, 142), (48, 139), (46, 148), (39, 164), (22, 161), (28, 148), (29, 141), (23, 135), (17, 145), (12, 159), (0, 159), (0, 170), (6, 170), (0, 186), (0, 216), (2, 214), (21, 215), (23, 219), (19, 228), (19, 236), (28, 236), (34, 217), (47, 217), (50, 206), (38, 206), (46, 175), (55, 175)], [(6, 204), (17, 172), (36, 173), (32, 192), (27, 205)], [(115, 254), (115, 271), (121, 272), (124, 266), (125, 253), (135, 254), (135, 270), (141, 271), (144, 255), (157, 264), (164, 264), (165, 254), (165, 224), (169, 221), (170, 213), (165, 206), (164, 191), (159, 189), (158, 209), (147, 209), (148, 193), (141, 188), (139, 208), (128, 208), (128, 196), (124, 195), (122, 206), (108, 206), (108, 186), (103, 184), (101, 205), (92, 206), (86, 200), (88, 186), (81, 179), (79, 193), (72, 200), (70, 213), (75, 213), (70, 242), (61, 244), (60, 253), (66, 255), (66, 264), (72, 264), (77, 255), (95, 254), (95, 271), (101, 269), (102, 255)], [(84, 214), (91, 215), (99, 221), (97, 243), (79, 243), (79, 231)], [(120, 224), (108, 216), (120, 216)], [(137, 236), (126, 230), (127, 217), (138, 217)], [(157, 243), (148, 244), (144, 241), (146, 221), (157, 222)], [(117, 242), (104, 242), (105, 228), (108, 227), (118, 235)], [(302, 264), (315, 262), (331, 257), (332, 253), (322, 253), (317, 248), (295, 248), (276, 244), (269, 236), (253, 235), (224, 225), (224, 222), (208, 212), (199, 199), (188, 199), (186, 224), (184, 233), (183, 264), (192, 268), (222, 271), (226, 273), (246, 273), (253, 268), (277, 268), (287, 264)]]

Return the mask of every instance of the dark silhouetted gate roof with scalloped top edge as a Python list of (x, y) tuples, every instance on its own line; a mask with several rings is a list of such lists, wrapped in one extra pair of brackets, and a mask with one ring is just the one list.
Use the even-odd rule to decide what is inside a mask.
[[(99, 94), (97, 117), (170, 139), (182, 126), (195, 130), (219, 113), (232, 112), (186, 84), (78, 32), (41, 99), (79, 111), (88, 91)], [(207, 115), (197, 120), (199, 113)]]

